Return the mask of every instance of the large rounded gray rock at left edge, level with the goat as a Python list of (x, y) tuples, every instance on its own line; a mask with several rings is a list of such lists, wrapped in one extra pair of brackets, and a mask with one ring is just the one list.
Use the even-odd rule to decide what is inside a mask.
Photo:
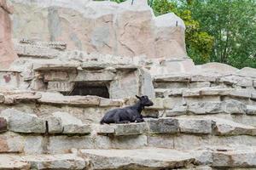
[(14, 109), (7, 109), (0, 113), (6, 118), (10, 131), (16, 133), (45, 133), (46, 124), (36, 115), (27, 114)]

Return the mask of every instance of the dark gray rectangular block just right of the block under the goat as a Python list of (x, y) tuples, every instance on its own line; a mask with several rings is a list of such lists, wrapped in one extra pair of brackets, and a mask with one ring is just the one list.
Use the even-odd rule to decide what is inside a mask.
[(178, 133), (178, 121), (172, 118), (145, 119), (149, 133)]

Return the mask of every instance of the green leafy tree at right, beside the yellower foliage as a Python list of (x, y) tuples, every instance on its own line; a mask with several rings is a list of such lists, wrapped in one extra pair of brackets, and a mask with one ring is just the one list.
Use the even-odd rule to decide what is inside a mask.
[(215, 37), (212, 61), (256, 67), (255, 0), (194, 0), (190, 10), (201, 30)]

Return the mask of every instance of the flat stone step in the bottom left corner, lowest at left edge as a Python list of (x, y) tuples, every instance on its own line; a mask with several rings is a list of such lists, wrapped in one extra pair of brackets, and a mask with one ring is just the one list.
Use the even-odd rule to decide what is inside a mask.
[(90, 169), (90, 161), (75, 154), (0, 155), (0, 169)]

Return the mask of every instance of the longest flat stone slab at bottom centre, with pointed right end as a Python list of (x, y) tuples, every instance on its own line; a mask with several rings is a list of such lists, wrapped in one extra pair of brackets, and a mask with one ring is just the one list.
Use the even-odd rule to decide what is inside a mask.
[(171, 169), (187, 167), (195, 158), (189, 153), (160, 148), (140, 150), (80, 150), (88, 156), (93, 169)]

